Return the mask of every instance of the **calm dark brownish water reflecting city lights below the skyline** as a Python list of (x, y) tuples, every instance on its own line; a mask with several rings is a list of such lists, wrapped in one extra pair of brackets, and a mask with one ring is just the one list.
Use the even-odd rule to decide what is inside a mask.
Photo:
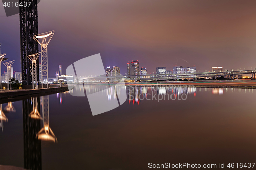
[[(87, 90), (93, 93), (101, 87)], [(129, 96), (121, 106), (95, 116), (86, 97), (69, 92), (2, 104), (0, 164), (147, 169), (148, 163), (255, 162), (255, 90), (117, 87), (101, 91), (101, 98), (115, 101), (116, 93), (123, 91)], [(156, 99), (151, 98), (154, 94)], [(163, 96), (172, 99), (158, 100)], [(34, 108), (41, 119), (36, 119)], [(43, 109), (49, 117), (43, 117)], [(44, 124), (51, 129), (48, 137)]]

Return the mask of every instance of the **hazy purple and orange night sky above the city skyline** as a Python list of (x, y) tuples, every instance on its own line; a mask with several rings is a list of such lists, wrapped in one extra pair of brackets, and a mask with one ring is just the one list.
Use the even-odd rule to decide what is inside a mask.
[[(122, 74), (132, 60), (148, 73), (173, 65), (200, 71), (256, 68), (252, 0), (42, 0), (38, 24), (39, 33), (55, 30), (48, 47), (50, 76), (59, 64), (66, 70), (97, 53), (105, 67), (117, 65)], [(1, 53), (20, 71), (19, 14), (6, 17), (2, 5), (0, 42)]]

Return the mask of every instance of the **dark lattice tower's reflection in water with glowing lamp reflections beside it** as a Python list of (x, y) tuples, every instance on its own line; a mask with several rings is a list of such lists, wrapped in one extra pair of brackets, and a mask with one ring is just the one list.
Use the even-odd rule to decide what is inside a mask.
[[(40, 98), (29, 98), (22, 101), (25, 169), (42, 169), (41, 140), (57, 142), (49, 125), (49, 96), (42, 96), (41, 101), (42, 109), (40, 108)], [(8, 108), (10, 108), (9, 110), (14, 109), (10, 103), (8, 103)], [(42, 128), (41, 119), (43, 120)]]

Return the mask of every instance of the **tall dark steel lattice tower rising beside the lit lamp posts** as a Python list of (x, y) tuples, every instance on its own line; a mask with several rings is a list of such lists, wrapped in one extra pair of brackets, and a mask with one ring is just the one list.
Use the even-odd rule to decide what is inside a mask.
[[(24, 2), (24, 0), (19, 0), (19, 3), (20, 2)], [(27, 85), (32, 84), (32, 63), (27, 56), (39, 52), (38, 43), (33, 39), (33, 36), (38, 34), (37, 0), (30, 0), (30, 2), (29, 7), (19, 7), (22, 80), (27, 80), (22, 82)], [(39, 80), (38, 60), (36, 61), (36, 65), (37, 80)]]

